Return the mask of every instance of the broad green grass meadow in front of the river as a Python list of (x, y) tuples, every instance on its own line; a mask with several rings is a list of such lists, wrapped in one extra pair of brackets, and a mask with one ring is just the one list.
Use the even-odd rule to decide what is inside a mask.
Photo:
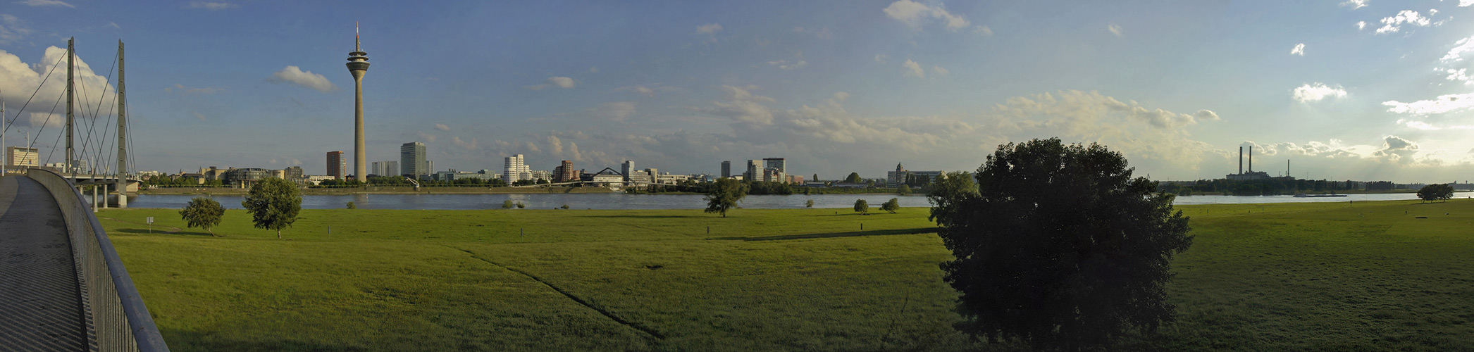
[[(1122, 349), (1474, 346), (1474, 202), (1179, 209), (1179, 321)], [(920, 208), (304, 211), (289, 240), (99, 217), (174, 351), (1008, 349), (952, 328)]]

